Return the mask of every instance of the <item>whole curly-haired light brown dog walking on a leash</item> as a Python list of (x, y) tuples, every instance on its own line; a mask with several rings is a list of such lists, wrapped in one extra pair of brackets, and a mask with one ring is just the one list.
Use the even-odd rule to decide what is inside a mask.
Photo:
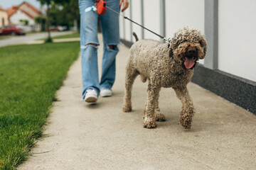
[[(137, 35), (134, 36), (138, 40)], [(156, 128), (156, 121), (166, 120), (159, 109), (161, 87), (174, 89), (182, 103), (181, 125), (191, 128), (195, 110), (186, 86), (191, 81), (197, 61), (206, 56), (206, 50), (205, 36), (199, 30), (188, 27), (178, 30), (170, 44), (156, 40), (135, 42), (127, 61), (123, 111), (132, 111), (132, 84), (140, 74), (143, 82), (149, 80), (144, 128)]]

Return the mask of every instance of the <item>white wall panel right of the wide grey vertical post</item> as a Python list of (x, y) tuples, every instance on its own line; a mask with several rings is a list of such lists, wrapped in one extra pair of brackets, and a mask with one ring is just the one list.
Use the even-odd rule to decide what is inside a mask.
[(219, 1), (218, 67), (256, 81), (256, 1)]

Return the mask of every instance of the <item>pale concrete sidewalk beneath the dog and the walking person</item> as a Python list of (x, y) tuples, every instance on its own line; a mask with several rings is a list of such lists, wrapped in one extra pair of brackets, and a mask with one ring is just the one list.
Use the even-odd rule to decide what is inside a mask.
[[(172, 89), (161, 89), (159, 98), (166, 122), (143, 128), (147, 84), (139, 78), (133, 86), (134, 110), (123, 113), (128, 53), (121, 45), (114, 95), (95, 105), (80, 101), (80, 58), (73, 64), (45, 137), (18, 169), (255, 169), (255, 115), (196, 84), (188, 84), (196, 108), (191, 130), (179, 123), (181, 102)], [(101, 62), (102, 47), (98, 54)]]

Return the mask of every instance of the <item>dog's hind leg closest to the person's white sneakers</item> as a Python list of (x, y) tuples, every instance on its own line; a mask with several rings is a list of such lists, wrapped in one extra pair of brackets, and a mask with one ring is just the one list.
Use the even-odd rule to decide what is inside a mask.
[(124, 94), (124, 112), (132, 111), (132, 84), (134, 79), (138, 76), (139, 72), (134, 69), (130, 64), (127, 64), (126, 77), (125, 77), (125, 94)]

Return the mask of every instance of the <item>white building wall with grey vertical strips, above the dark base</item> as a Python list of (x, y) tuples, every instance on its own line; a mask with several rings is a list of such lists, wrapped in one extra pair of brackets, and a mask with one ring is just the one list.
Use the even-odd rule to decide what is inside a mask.
[[(207, 26), (209, 22), (206, 18), (206, 13), (208, 13), (206, 1), (208, 0), (130, 0), (129, 9), (124, 13), (124, 16), (131, 17), (133, 21), (166, 38), (172, 37), (178, 29), (184, 26), (197, 28), (204, 34), (212, 31), (209, 30), (212, 28)], [(217, 63), (215, 63), (216, 67), (210, 68), (208, 67), (208, 60), (205, 67), (256, 81), (256, 1), (214, 1), (217, 1), (218, 4), (218, 27), (217, 31), (213, 32), (215, 33), (213, 36), (217, 37), (215, 39), (215, 41), (217, 40), (217, 47), (209, 46), (208, 50), (209, 53), (210, 50), (218, 53), (213, 56), (216, 57), (215, 59), (210, 59), (212, 60), (210, 62), (217, 61)], [(164, 22), (161, 22), (163, 11)], [(120, 26), (122, 29), (120, 31), (121, 38), (129, 42), (134, 42), (131, 35), (132, 31), (135, 31), (139, 38), (161, 40), (156, 35), (142, 30), (139, 26), (122, 19), (122, 17), (120, 18), (120, 25), (122, 25)], [(209, 56), (206, 55), (206, 57)], [(201, 61), (200, 63), (205, 64), (205, 62)]]

